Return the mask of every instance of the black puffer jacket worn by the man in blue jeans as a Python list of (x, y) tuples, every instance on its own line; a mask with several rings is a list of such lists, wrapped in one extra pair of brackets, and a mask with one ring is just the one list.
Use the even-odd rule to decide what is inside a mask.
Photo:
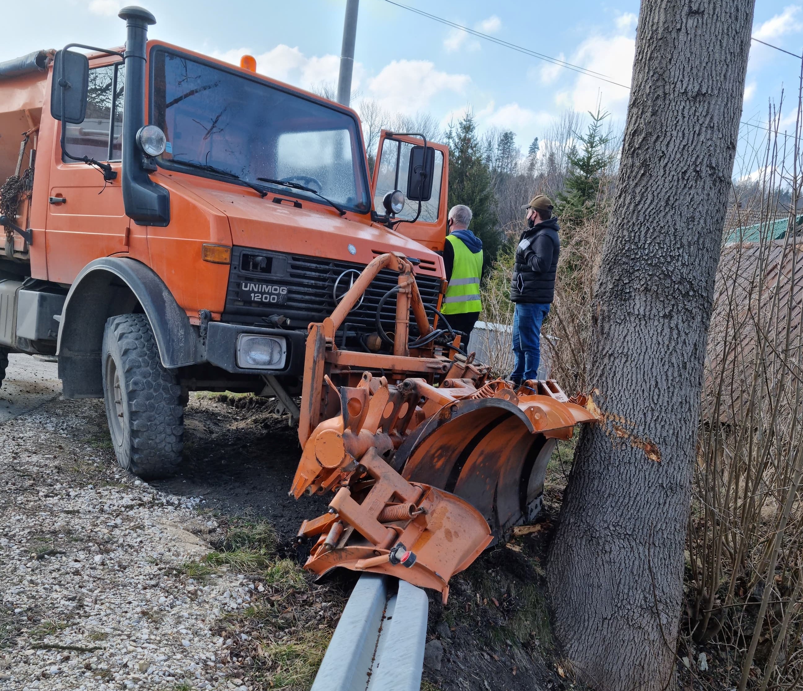
[(510, 285), (514, 303), (549, 304), (555, 298), (555, 273), (560, 255), (557, 218), (536, 223), (521, 234)]

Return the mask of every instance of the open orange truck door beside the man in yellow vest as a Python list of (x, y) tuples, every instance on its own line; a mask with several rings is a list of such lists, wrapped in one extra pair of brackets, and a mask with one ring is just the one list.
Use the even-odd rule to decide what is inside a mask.
[[(410, 170), (410, 151), (414, 146), (421, 146), (422, 138), (393, 134), (384, 129), (379, 136), (377, 162), (373, 166), (373, 208), (377, 213), (385, 213), (382, 200), (385, 194), (401, 189), (406, 193), (407, 177)], [(399, 223), (393, 230), (420, 242), (430, 250), (441, 252), (446, 242), (446, 203), (449, 185), (449, 148), (443, 144), (427, 146), (434, 149), (434, 175), (432, 195), (428, 201), (421, 202), (421, 215), (414, 223)], [(397, 218), (412, 221), (418, 213), (418, 201), (405, 199), (402, 213)]]

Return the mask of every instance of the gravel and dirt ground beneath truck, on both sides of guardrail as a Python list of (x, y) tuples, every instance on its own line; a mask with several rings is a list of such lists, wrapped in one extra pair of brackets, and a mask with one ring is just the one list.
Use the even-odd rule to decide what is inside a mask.
[[(328, 498), (287, 495), (295, 429), (259, 400), (193, 395), (185, 461), (149, 486), (116, 466), (102, 401), (60, 400), (55, 364), (19, 357), (0, 390), (0, 691), (308, 689), (354, 578), (298, 566), (292, 538)], [(22, 400), (28, 379), (43, 389)], [(422, 689), (574, 688), (543, 593), (550, 492), (545, 522), (454, 577), (446, 607), (429, 594)]]

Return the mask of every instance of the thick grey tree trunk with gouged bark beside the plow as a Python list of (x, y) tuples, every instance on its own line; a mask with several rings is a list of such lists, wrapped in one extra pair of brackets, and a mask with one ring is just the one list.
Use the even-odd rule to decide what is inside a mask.
[(601, 689), (664, 689), (714, 274), (754, 0), (643, 0), (584, 430), (548, 565), (556, 632)]

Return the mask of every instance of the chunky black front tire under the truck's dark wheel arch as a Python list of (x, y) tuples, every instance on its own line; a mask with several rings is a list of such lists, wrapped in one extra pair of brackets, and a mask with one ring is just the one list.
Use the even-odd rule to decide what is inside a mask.
[(101, 358), (106, 417), (120, 467), (145, 479), (173, 475), (184, 449), (181, 386), (161, 364), (148, 318), (108, 319)]

